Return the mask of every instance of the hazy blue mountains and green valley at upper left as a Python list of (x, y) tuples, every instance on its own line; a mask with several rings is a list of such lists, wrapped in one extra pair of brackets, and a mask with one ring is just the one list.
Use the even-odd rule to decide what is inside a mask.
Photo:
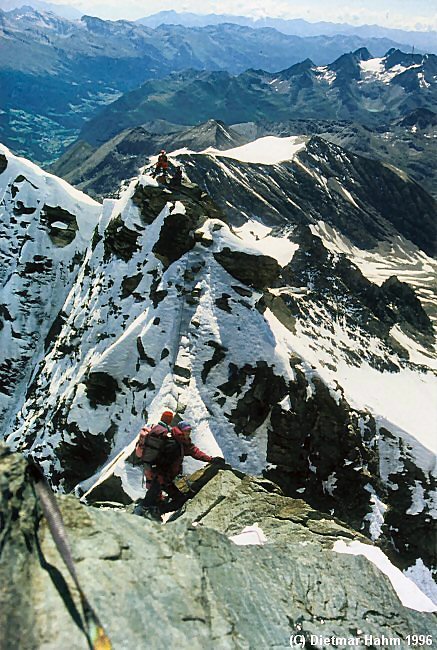
[(47, 164), (102, 106), (148, 79), (187, 68), (282, 70), (305, 58), (326, 65), (362, 46), (382, 56), (396, 43), (354, 35), (300, 38), (229, 24), (151, 29), (90, 16), (70, 21), (29, 7), (0, 11), (0, 138)]

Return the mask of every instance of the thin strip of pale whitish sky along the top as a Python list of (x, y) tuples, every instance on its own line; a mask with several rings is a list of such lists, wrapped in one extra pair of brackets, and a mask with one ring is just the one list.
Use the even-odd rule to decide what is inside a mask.
[(437, 30), (437, 0), (48, 0), (83, 13), (136, 20), (158, 11), (229, 13), (254, 17), (303, 18), (310, 22), (377, 24), (384, 27)]

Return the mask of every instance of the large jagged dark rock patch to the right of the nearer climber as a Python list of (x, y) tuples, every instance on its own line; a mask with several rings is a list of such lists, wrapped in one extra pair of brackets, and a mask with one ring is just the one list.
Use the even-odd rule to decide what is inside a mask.
[[(309, 503), (326, 511), (334, 509), (337, 516), (359, 528), (369, 507), (364, 486), (378, 476), (377, 450), (372, 443), (375, 425), (367, 422), (366, 440), (360, 414), (354, 414), (344, 397), (334, 399), (317, 378), (312, 380), (308, 397), (305, 376), (298, 368), (295, 375), (289, 388), (290, 410), (279, 405), (272, 409), (267, 460), (277, 467), (266, 476), (285, 494), (295, 495), (304, 488)], [(322, 481), (330, 476), (335, 478), (334, 487), (325, 491)]]

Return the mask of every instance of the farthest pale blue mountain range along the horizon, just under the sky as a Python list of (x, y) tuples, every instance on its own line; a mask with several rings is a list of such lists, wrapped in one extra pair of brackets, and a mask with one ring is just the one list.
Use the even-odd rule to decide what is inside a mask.
[(148, 27), (159, 25), (184, 25), (185, 27), (205, 27), (234, 23), (253, 29), (270, 27), (283, 34), (295, 36), (335, 36), (338, 34), (354, 34), (362, 38), (389, 38), (410, 48), (413, 46), (437, 54), (437, 32), (417, 32), (403, 29), (390, 29), (380, 25), (349, 25), (347, 23), (316, 22), (282, 18), (250, 18), (248, 16), (233, 16), (231, 14), (193, 14), (189, 12), (160, 11), (159, 13), (140, 18), (136, 21)]

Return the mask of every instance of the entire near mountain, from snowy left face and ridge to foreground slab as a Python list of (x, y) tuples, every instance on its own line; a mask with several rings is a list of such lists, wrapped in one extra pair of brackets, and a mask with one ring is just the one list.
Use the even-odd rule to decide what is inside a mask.
[[(435, 629), (435, 200), (319, 135), (238, 134), (102, 203), (0, 151), (6, 647), (87, 647), (83, 594), (116, 648)], [(163, 408), (227, 465), (188, 459), (158, 525), (132, 452)]]

